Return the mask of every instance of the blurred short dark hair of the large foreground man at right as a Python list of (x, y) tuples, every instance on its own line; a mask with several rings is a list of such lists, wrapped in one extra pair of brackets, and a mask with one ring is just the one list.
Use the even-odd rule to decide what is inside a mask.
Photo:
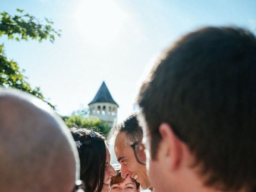
[[(183, 36), (144, 82), (138, 104), (151, 132), (151, 157), (168, 123), (202, 163), (205, 184), (256, 187), (256, 38), (235, 27)], [(196, 165), (195, 164), (195, 165)]]

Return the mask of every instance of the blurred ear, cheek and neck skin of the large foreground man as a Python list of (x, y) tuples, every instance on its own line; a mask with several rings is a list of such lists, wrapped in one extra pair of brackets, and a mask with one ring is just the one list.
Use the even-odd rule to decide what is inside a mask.
[(191, 168), (194, 163), (193, 155), (186, 144), (172, 132), (172, 128), (166, 123), (160, 125), (159, 132), (162, 139), (158, 144), (154, 159), (150, 151), (152, 134), (147, 128), (143, 128), (143, 131), (145, 133), (143, 142), (146, 146), (146, 166), (154, 189), (158, 192), (199, 192), (198, 187), (195, 186), (202, 186), (203, 183), (195, 179), (198, 177), (197, 171)]

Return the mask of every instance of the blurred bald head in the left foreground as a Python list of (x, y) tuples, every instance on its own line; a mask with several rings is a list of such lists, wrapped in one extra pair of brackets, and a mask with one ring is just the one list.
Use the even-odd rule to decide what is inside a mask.
[(70, 192), (78, 161), (72, 136), (46, 104), (0, 90), (1, 190)]

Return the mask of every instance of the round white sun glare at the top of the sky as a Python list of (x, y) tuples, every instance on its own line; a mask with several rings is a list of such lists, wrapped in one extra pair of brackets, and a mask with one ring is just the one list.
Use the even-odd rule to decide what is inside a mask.
[(126, 17), (113, 0), (81, 0), (75, 12), (81, 36), (97, 46), (108, 46), (118, 35)]

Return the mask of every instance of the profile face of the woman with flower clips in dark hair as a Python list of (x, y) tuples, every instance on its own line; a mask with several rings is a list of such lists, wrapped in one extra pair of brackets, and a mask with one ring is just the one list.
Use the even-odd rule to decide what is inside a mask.
[(105, 164), (105, 177), (103, 192), (110, 192), (110, 178), (116, 175), (116, 170), (110, 165), (110, 152), (106, 146), (106, 164)]

